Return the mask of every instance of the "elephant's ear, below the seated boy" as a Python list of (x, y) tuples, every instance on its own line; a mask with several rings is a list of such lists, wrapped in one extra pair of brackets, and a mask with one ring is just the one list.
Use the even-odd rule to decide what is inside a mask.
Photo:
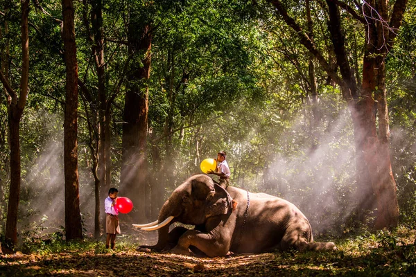
[(227, 190), (214, 185), (215, 193), (208, 196), (207, 210), (205, 217), (213, 217), (215, 215), (226, 215), (229, 211), (229, 208), (232, 208), (234, 211), (236, 207), (236, 202), (231, 198)]

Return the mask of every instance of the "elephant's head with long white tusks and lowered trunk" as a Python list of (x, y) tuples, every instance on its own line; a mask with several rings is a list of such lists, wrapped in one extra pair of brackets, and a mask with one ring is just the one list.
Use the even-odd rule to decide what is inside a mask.
[(158, 230), (159, 238), (153, 248), (161, 251), (168, 244), (169, 226), (173, 222), (202, 225), (211, 217), (229, 213), (235, 206), (227, 191), (214, 184), (210, 177), (194, 175), (173, 191), (159, 211), (157, 221), (133, 226), (146, 231)]

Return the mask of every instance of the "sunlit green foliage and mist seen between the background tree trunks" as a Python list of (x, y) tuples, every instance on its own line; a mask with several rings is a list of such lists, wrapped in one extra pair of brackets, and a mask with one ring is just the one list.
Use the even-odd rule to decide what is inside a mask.
[[(43, 244), (43, 236), (48, 229), (44, 228), (62, 224), (64, 207), (65, 71), (60, 26), (55, 20), (62, 17), (60, 3), (41, 2), (49, 15), (35, 6), (29, 15), (30, 93), (21, 122), (19, 225), (31, 226), (21, 233), (27, 251), (37, 247), (51, 252), (60, 251), (60, 238), (53, 235), (46, 238), (57, 248), (47, 250), (49, 246)], [(97, 110), (98, 77), (92, 60), (94, 42), (87, 31), (91, 22), (85, 23), (83, 17), (87, 15), (87, 20), (91, 20), (91, 2), (87, 1), (87, 6), (81, 1), (74, 4), (79, 76), (93, 98), (78, 109), (80, 199), (85, 228), (91, 232), (94, 203), (89, 199), (94, 197), (94, 181), (87, 119), (92, 118), (87, 118), (87, 109)], [(285, 5), (307, 30), (304, 3), (285, 1)], [(10, 46), (8, 73), (12, 87), (18, 91), (19, 3), (0, 1), (0, 6), (2, 12), (8, 8), (1, 18), (8, 20), (9, 27), (8, 34), (2, 33), (0, 49)], [(318, 2), (311, 1), (311, 8), (316, 46), (324, 56), (333, 58), (327, 14)], [(397, 43), (386, 59), (392, 168), (401, 222), (409, 227), (416, 222), (415, 13), (415, 1), (410, 0)], [(356, 78), (360, 79), (365, 30), (355, 24), (348, 12), (342, 12), (342, 21), (349, 60), (356, 66)], [(150, 186), (162, 186), (164, 192), (159, 198), (166, 197), (189, 175), (200, 172), (202, 159), (216, 157), (218, 150), (225, 150), (234, 186), (278, 195), (295, 203), (311, 221), (316, 237), (362, 231), (361, 224), (354, 222), (354, 195), (360, 188), (355, 180), (354, 129), (345, 102), (340, 99), (340, 91), (329, 83), (327, 73), (299, 47), (295, 33), (276, 17), (270, 3), (263, 1), (255, 5), (238, 0), (104, 1), (105, 95), (109, 98), (116, 93), (111, 107), (115, 186), (119, 186), (121, 168), (125, 75), (141, 66), (142, 57), (132, 57), (126, 40), (131, 26), (148, 23), (152, 24), (153, 41), (147, 82), (147, 161), (150, 175), (155, 178)], [(317, 106), (309, 101), (310, 61), (315, 65), (318, 83)], [(117, 87), (119, 83), (121, 86)], [(3, 89), (2, 85), (0, 88)], [(3, 182), (6, 200), (10, 162), (7, 113), (3, 97), (0, 177), (6, 180)], [(318, 122), (313, 123), (314, 118)], [(0, 201), (0, 208), (3, 207), (0, 212), (4, 214), (6, 202)], [(47, 222), (42, 222), (43, 215), (49, 218)], [(385, 247), (392, 247), (389, 240), (386, 237)], [(92, 248), (96, 253), (104, 253), (99, 244)], [(335, 266), (331, 263), (322, 267), (336, 272), (332, 271)]]

